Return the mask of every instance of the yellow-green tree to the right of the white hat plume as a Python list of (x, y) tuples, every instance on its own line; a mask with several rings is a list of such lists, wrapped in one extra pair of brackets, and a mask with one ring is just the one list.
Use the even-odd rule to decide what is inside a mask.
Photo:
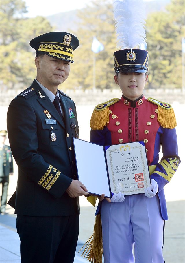
[(149, 88), (181, 88), (184, 1), (172, 0), (166, 12), (152, 13), (146, 28)]

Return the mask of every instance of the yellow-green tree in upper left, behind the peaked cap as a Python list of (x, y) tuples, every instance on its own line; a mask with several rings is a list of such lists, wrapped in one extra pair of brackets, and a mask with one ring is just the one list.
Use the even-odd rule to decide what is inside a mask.
[[(26, 13), (22, 0), (1, 0), (0, 2), (0, 70), (1, 87), (27, 88), (36, 76), (34, 50), (29, 41), (34, 37), (52, 31), (44, 17), (23, 18)], [(16, 85), (17, 84), (17, 85)]]

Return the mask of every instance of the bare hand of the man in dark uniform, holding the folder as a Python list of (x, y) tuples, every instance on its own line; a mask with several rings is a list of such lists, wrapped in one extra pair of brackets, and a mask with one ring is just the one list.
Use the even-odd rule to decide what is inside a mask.
[(77, 197), (81, 195), (88, 195), (87, 188), (80, 181), (73, 180), (66, 192), (70, 197)]

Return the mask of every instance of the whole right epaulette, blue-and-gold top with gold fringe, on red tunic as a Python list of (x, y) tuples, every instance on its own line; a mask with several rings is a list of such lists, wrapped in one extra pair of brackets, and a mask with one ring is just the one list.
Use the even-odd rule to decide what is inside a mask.
[(163, 128), (173, 129), (177, 125), (175, 113), (170, 104), (149, 97), (148, 101), (158, 105), (157, 120)]

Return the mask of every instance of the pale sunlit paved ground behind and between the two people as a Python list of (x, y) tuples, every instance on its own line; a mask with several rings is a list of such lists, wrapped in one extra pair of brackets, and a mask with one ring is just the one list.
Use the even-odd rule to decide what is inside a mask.
[[(80, 129), (80, 138), (89, 140), (89, 121), (94, 106), (78, 106), (78, 121)], [(177, 119), (177, 137), (179, 145), (179, 155), (181, 164), (175, 173), (171, 182), (164, 188), (169, 220), (166, 221), (163, 254), (166, 263), (185, 263), (185, 164), (184, 164), (184, 113), (185, 106), (174, 104)], [(6, 111), (7, 107), (0, 107), (1, 122), (0, 130), (6, 129)], [(8, 143), (8, 142), (7, 142)], [(14, 175), (10, 176), (8, 189), (9, 197), (14, 193), (17, 183), (17, 166), (14, 162)], [(0, 189), (1, 193), (1, 189)], [(94, 214), (96, 208), (89, 206), (85, 197), (80, 197), (80, 231), (77, 251), (82, 244), (92, 235), (94, 226)], [(0, 263), (20, 263), (20, 241), (15, 229), (16, 216), (14, 209), (7, 206), (7, 213), (0, 215)], [(86, 262), (78, 253), (76, 253), (74, 263)]]

